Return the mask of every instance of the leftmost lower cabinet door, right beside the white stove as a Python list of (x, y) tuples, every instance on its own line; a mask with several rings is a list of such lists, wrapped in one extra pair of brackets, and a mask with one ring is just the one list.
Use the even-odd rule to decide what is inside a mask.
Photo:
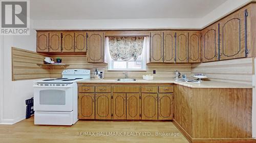
[(94, 93), (79, 93), (79, 119), (95, 119)]

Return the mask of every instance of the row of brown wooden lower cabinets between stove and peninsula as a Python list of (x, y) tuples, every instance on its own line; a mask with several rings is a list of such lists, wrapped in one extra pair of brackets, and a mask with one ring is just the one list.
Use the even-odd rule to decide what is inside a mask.
[(78, 84), (79, 119), (172, 120), (172, 84)]

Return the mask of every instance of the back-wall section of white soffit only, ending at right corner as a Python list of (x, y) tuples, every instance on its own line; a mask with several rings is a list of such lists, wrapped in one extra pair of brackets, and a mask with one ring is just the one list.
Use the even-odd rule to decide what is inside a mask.
[(200, 28), (200, 19), (35, 20), (35, 29)]

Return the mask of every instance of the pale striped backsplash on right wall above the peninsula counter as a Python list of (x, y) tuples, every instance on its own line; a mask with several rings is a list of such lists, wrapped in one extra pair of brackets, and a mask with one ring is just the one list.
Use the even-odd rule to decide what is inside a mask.
[(210, 80), (252, 84), (253, 58), (191, 65), (191, 73), (203, 73)]

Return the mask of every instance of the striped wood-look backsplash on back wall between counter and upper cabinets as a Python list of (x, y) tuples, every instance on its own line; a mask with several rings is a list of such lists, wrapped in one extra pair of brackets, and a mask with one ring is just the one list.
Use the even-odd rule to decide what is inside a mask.
[[(90, 64), (87, 62), (85, 55), (54, 55), (52, 58), (55, 60), (57, 57), (62, 58), (62, 63), (68, 64), (68, 69), (81, 68), (90, 69), (91, 78), (94, 77), (95, 68), (105, 68), (105, 78), (106, 79), (116, 79), (123, 77), (122, 71), (108, 71), (107, 64)], [(128, 75), (131, 78), (142, 78), (142, 75), (153, 74), (153, 70), (156, 70), (154, 78), (174, 78), (175, 71), (178, 70), (181, 74), (191, 74), (191, 64), (147, 64), (146, 71), (128, 71)], [(61, 77), (62, 68), (54, 68), (51, 71), (51, 77)]]

